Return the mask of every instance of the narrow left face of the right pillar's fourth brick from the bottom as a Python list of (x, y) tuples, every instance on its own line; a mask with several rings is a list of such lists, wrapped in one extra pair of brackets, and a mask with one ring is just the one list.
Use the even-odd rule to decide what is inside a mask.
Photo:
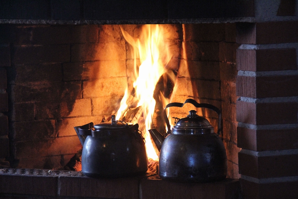
[(236, 102), (237, 122), (256, 124), (256, 104), (250, 102)]

